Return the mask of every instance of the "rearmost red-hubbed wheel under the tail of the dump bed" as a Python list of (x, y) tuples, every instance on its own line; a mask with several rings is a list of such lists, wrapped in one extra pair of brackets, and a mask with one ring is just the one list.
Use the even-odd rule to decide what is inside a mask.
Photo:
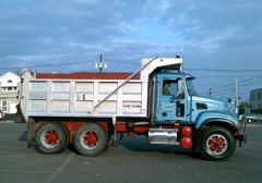
[(55, 155), (66, 149), (68, 137), (60, 123), (47, 122), (36, 130), (35, 148), (41, 154)]

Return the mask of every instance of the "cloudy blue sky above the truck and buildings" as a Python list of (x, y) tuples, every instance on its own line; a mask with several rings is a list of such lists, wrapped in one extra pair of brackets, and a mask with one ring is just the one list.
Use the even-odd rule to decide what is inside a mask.
[[(183, 58), (200, 95), (248, 101), (262, 88), (262, 1), (0, 0), (0, 75), (134, 72)], [(210, 94), (212, 91), (212, 94)]]

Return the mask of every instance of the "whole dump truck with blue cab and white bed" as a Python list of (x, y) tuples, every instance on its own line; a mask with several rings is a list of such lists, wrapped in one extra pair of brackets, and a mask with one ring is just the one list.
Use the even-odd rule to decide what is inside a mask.
[(21, 72), (16, 121), (27, 123), (28, 143), (43, 154), (69, 144), (97, 156), (117, 134), (145, 135), (150, 144), (199, 150), (226, 160), (247, 142), (236, 105), (199, 96), (182, 59), (142, 59), (134, 73)]

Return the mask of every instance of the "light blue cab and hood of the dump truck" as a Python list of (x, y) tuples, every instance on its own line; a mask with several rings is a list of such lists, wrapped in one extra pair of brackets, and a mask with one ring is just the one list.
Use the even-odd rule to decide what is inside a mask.
[[(217, 112), (217, 118), (223, 115), (224, 120), (231, 121), (231, 125), (237, 127), (238, 108), (236, 105), (214, 99), (211, 97), (199, 96), (194, 89), (191, 74), (182, 72), (162, 72), (156, 74), (157, 78), (157, 114), (156, 123), (172, 123), (174, 120), (184, 124), (195, 124), (204, 115)], [(165, 94), (165, 85), (169, 84), (169, 94)], [(203, 113), (203, 114), (202, 114)]]

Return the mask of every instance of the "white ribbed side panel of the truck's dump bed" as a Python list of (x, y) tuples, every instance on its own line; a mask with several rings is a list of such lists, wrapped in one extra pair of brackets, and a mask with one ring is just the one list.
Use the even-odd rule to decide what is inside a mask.
[(28, 117), (145, 117), (147, 81), (140, 80), (128, 82), (92, 113), (87, 113), (123, 82), (35, 78), (27, 72), (24, 73), (21, 96), (23, 113)]

